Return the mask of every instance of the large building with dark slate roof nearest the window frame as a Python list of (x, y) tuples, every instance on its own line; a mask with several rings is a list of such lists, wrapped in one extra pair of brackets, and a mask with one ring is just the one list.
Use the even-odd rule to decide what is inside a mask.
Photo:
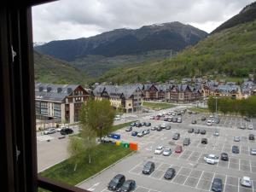
[(37, 119), (79, 121), (79, 110), (90, 94), (79, 84), (35, 84)]

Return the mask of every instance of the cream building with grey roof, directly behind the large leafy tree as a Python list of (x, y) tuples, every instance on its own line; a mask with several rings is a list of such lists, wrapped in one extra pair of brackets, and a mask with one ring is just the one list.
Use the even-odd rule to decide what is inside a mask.
[(139, 110), (142, 106), (143, 91), (137, 84), (98, 85), (93, 90), (95, 99), (108, 99), (113, 108), (122, 108), (125, 113)]

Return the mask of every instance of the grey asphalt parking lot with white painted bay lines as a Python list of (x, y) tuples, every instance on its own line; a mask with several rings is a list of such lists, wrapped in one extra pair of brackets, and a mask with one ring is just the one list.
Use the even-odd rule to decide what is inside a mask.
[[(152, 191), (211, 191), (212, 180), (214, 177), (221, 178), (223, 181), (223, 191), (256, 192), (256, 155), (249, 153), (250, 148), (256, 148), (255, 141), (248, 140), (248, 134), (255, 134), (255, 130), (235, 129), (234, 126), (244, 122), (238, 117), (221, 117), (218, 125), (207, 126), (201, 123), (203, 114), (184, 114), (183, 123), (171, 123), (171, 130), (150, 131), (144, 137), (132, 137), (131, 132), (125, 129), (119, 130), (121, 140), (125, 142), (137, 142), (138, 151), (136, 154), (120, 161), (115, 166), (102, 172), (102, 174), (80, 183), (78, 186), (91, 191), (108, 191), (108, 182), (118, 173), (125, 175), (126, 179), (134, 179), (137, 182), (135, 191), (152, 192)], [(191, 121), (197, 119), (198, 124), (192, 125)], [(154, 125), (160, 125), (164, 121), (153, 120), (148, 117), (141, 119), (141, 122), (149, 121)], [(231, 122), (231, 124), (230, 124)], [(255, 124), (255, 119), (253, 127)], [(229, 125), (229, 126), (228, 126)], [(134, 128), (141, 131), (150, 127)], [(206, 135), (188, 133), (189, 128), (199, 128), (207, 131)], [(219, 131), (219, 136), (213, 136), (215, 130)], [(179, 140), (172, 140), (175, 132), (179, 132), (181, 137)], [(240, 142), (234, 142), (233, 137), (241, 137)], [(177, 154), (174, 148), (182, 145), (183, 139), (189, 137), (191, 143), (189, 146), (183, 147), (183, 152)], [(207, 144), (201, 144), (201, 138), (207, 138)], [(232, 154), (231, 147), (236, 145), (240, 148), (240, 154)], [(172, 148), (170, 156), (162, 154), (154, 154), (157, 146)], [(215, 165), (209, 165), (203, 159), (206, 154), (221, 153), (229, 154), (229, 161), (219, 160)], [(154, 172), (150, 175), (142, 173), (143, 165), (151, 160), (155, 163)], [(176, 176), (172, 180), (166, 180), (163, 176), (167, 168), (173, 167), (176, 170)], [(252, 188), (242, 187), (239, 183), (243, 176), (251, 177)]]

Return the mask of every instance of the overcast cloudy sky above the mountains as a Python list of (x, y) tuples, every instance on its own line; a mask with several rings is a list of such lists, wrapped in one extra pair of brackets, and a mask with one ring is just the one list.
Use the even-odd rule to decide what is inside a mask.
[(180, 21), (206, 32), (255, 0), (61, 0), (32, 8), (34, 42)]

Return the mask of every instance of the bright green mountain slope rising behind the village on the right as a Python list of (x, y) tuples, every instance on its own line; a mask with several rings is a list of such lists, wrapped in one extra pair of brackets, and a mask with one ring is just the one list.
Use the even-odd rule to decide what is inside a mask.
[(256, 20), (216, 32), (165, 61), (111, 70), (99, 81), (166, 81), (207, 74), (245, 77), (256, 71)]

